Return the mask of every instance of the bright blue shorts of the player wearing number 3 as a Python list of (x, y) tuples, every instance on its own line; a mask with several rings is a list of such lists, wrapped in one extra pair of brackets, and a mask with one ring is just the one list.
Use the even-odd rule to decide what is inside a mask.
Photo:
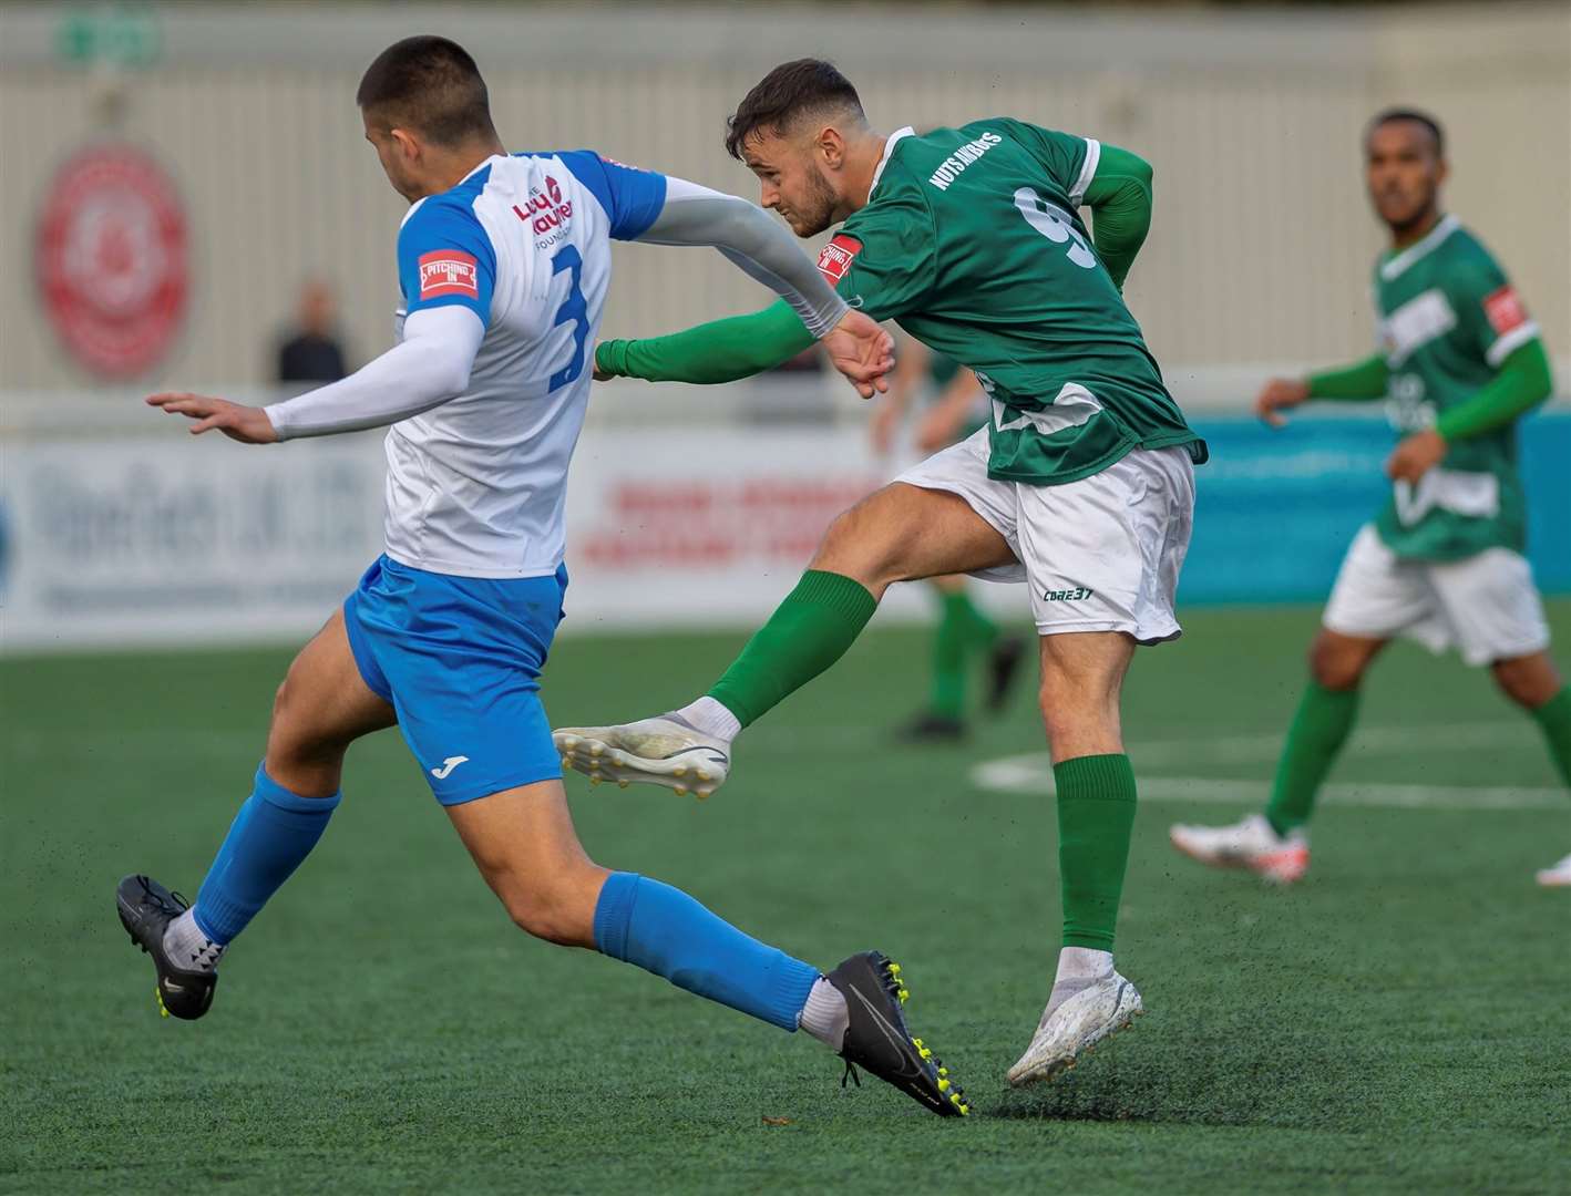
[(456, 578), (383, 556), (344, 600), (360, 676), (443, 805), (562, 775), (540, 670), (562, 618), (550, 578)]

